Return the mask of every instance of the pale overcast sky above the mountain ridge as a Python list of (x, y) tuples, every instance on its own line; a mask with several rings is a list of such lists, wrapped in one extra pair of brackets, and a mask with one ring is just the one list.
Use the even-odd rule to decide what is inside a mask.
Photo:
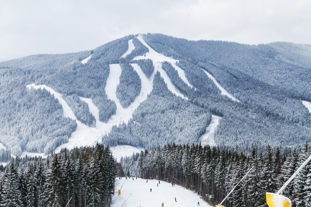
[(147, 32), (311, 44), (311, 0), (0, 0), (0, 61)]

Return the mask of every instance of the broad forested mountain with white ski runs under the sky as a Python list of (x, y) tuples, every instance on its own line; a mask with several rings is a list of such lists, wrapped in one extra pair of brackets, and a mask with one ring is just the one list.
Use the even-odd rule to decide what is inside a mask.
[(297, 146), (311, 139), (311, 46), (129, 35), (0, 63), (0, 156), (104, 142)]

